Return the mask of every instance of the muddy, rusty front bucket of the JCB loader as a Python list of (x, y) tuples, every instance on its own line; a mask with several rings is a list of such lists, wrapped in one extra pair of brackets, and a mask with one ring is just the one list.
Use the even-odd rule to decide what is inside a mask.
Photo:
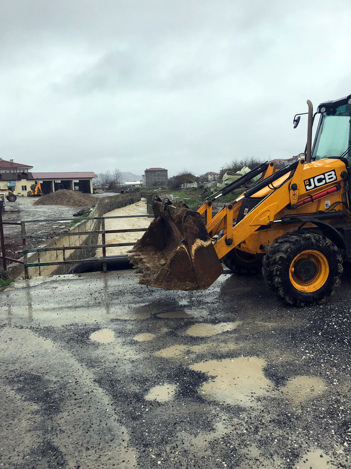
[(167, 290), (202, 290), (223, 272), (201, 215), (183, 204), (153, 204), (155, 219), (131, 250), (139, 283)]

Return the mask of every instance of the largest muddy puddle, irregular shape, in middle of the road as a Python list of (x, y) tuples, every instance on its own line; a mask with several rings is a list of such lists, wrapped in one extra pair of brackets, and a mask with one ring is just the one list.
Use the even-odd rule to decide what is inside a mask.
[(216, 378), (200, 387), (207, 401), (220, 401), (242, 407), (255, 405), (255, 398), (271, 394), (273, 384), (263, 375), (267, 362), (258, 357), (225, 358), (190, 365)]

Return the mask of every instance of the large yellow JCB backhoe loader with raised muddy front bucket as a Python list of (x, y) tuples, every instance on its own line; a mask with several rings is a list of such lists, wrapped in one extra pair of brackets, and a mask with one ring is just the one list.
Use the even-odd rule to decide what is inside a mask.
[[(351, 95), (320, 104), (314, 115), (307, 104), (307, 145), (292, 163), (278, 171), (273, 162), (257, 166), (197, 212), (156, 198), (156, 218), (132, 249), (140, 283), (204, 289), (222, 273), (222, 261), (241, 274), (262, 268), (266, 284), (289, 304), (321, 303), (334, 293), (343, 261), (351, 260)], [(297, 114), (294, 128), (299, 121)], [(241, 186), (241, 196), (212, 216), (212, 203)]]

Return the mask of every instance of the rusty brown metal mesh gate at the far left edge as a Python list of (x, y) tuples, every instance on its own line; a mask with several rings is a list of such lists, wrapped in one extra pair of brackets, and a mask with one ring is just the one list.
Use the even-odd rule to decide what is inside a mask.
[(24, 277), (21, 208), (0, 199), (0, 278)]

